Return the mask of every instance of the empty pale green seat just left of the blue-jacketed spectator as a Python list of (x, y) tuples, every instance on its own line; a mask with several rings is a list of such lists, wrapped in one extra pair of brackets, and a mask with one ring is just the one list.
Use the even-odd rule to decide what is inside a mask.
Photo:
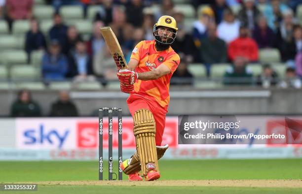
[(16, 81), (35, 80), (40, 78), (40, 71), (32, 65), (14, 65), (10, 68), (10, 78)]

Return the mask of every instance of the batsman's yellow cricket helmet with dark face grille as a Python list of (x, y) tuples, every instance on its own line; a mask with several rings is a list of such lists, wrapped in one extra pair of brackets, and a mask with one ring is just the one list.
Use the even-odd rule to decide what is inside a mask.
[[(158, 32), (158, 27), (167, 27), (167, 28), (172, 29), (173, 32), (167, 32), (167, 31), (162, 31), (162, 30), (159, 30), (159, 32)], [(153, 36), (154, 36), (155, 40), (159, 44), (163, 44), (166, 46), (168, 46), (174, 42), (177, 31), (178, 31), (178, 28), (176, 25), (176, 20), (173, 17), (168, 16), (168, 15), (161, 16), (153, 26)]]

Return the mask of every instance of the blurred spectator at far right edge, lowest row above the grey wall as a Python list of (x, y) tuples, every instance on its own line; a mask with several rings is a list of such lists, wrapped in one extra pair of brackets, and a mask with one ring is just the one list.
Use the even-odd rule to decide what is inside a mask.
[(279, 83), (280, 88), (301, 88), (301, 80), (296, 75), (296, 71), (292, 67), (288, 67), (285, 72), (285, 80)]

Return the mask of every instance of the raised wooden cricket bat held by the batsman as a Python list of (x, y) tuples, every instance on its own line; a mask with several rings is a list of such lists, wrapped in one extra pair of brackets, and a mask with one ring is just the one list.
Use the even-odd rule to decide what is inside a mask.
[(114, 59), (117, 70), (128, 68), (124, 54), (120, 48), (118, 40), (110, 27), (101, 27), (101, 33), (106, 41), (110, 53)]

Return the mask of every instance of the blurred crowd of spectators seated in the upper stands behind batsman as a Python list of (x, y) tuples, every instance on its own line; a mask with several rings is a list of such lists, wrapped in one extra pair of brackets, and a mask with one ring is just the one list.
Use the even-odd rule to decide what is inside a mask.
[[(302, 27), (296, 19), (302, 0), (189, 0), (196, 8), (196, 20), (191, 29), (185, 14), (173, 0), (45, 0), (55, 7), (53, 26), (47, 33), (39, 28), (33, 14), (34, 0), (0, 0), (0, 18), (6, 20), (11, 31), (16, 20), (30, 20), (26, 33), (25, 51), (28, 62), (31, 53), (44, 50), (40, 62), (43, 78), (47, 81), (73, 79), (75, 81), (116, 79), (115, 65), (99, 32), (110, 25), (128, 61), (132, 49), (141, 40), (153, 39), (153, 25), (161, 15), (175, 17), (179, 31), (172, 48), (181, 56), (182, 63), (174, 74), (174, 84), (193, 84), (187, 65), (204, 64), (210, 76), (213, 64), (230, 63), (223, 83), (252, 84), (255, 77), (247, 64), (259, 63), (259, 49), (276, 48), (287, 65), (288, 80), (278, 81), (272, 64), (263, 65), (263, 73), (256, 80), (259, 85), (300, 88), (302, 76)], [(90, 37), (83, 37), (76, 26), (66, 25), (60, 14), (63, 5), (80, 5), (84, 16), (91, 5), (102, 4), (96, 12)], [(160, 8), (152, 11), (151, 5)], [(204, 5), (204, 6), (202, 6)], [(240, 5), (236, 13), (232, 9)], [(261, 9), (260, 9), (261, 7)], [(279, 75), (280, 76), (280, 75)], [(234, 79), (231, 79), (234, 78)], [(253, 79), (252, 79), (253, 78)], [(261, 82), (261, 84), (260, 84)]]

